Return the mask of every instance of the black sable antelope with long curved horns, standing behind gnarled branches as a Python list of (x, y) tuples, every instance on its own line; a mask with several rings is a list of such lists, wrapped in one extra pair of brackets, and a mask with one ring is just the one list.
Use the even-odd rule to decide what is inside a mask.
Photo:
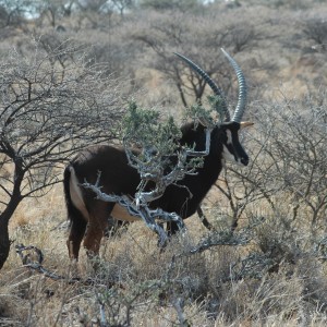
[[(215, 95), (222, 99), (222, 110), (226, 121), (216, 123), (210, 133), (209, 154), (204, 157), (202, 168), (196, 174), (185, 175), (177, 184), (169, 185), (164, 195), (152, 202), (152, 208), (161, 208), (168, 213), (177, 213), (185, 219), (192, 216), (199, 207), (201, 202), (208, 193), (226, 160), (233, 160), (243, 166), (249, 164), (249, 157), (239, 142), (239, 131), (252, 123), (241, 122), (246, 105), (246, 85), (244, 75), (237, 64), (223, 49), (222, 52), (233, 66), (239, 82), (239, 99), (232, 119), (219, 87), (199, 66), (182, 55), (175, 53), (192, 70), (198, 73), (209, 84)], [(182, 145), (195, 145), (195, 150), (205, 148), (206, 123), (197, 126), (186, 123), (181, 128)], [(98, 171), (101, 172), (99, 185), (107, 194), (134, 196), (140, 184), (137, 171), (129, 166), (125, 152), (122, 147), (110, 145), (92, 146), (78, 154), (64, 170), (64, 193), (71, 230), (68, 240), (69, 254), (71, 258), (77, 259), (81, 242), (87, 253), (98, 254), (104, 231), (108, 225), (109, 215), (114, 219), (133, 221), (128, 211), (116, 203), (107, 203), (95, 198), (95, 194), (85, 190), (81, 184), (86, 180), (95, 183)], [(191, 194), (191, 195), (190, 195)], [(172, 227), (172, 232), (175, 227)]]

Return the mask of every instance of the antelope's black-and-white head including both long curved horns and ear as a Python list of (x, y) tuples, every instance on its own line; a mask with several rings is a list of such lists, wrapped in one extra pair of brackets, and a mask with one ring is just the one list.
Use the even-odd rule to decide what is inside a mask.
[(235, 74), (238, 76), (238, 83), (239, 83), (239, 99), (232, 118), (230, 118), (230, 112), (222, 90), (215, 84), (215, 82), (209, 77), (209, 75), (186, 57), (180, 53), (175, 53), (175, 55), (180, 57), (184, 62), (186, 62), (192, 70), (198, 73), (206, 81), (206, 83), (208, 83), (210, 88), (214, 90), (215, 95), (219, 97), (219, 99), (221, 99), (221, 101), (219, 101), (219, 110), (222, 110), (225, 116), (225, 121), (216, 122), (215, 126), (206, 125), (206, 122), (202, 121), (204, 125), (213, 129), (211, 143), (218, 142), (222, 146), (220, 147), (222, 152), (221, 153), (222, 159), (234, 161), (243, 166), (247, 166), (249, 156), (245, 153), (239, 140), (240, 130), (253, 125), (252, 122), (242, 121), (242, 117), (246, 107), (246, 95), (247, 95), (245, 77), (240, 66), (235, 62), (235, 60), (223, 49), (221, 49), (221, 51), (223, 52), (223, 55), (227, 57), (228, 61), (234, 69)]

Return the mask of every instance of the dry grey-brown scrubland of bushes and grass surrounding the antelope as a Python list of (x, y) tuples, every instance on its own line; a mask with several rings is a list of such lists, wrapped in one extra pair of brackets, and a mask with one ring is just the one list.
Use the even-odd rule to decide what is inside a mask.
[[(0, 325), (326, 326), (326, 5), (0, 1)], [(64, 165), (120, 142), (131, 99), (180, 123), (185, 106), (206, 105), (208, 87), (173, 52), (233, 107), (221, 47), (246, 76), (255, 125), (250, 165), (228, 165), (203, 203), (214, 230), (191, 217), (162, 252), (135, 222), (104, 240), (96, 271), (82, 251), (71, 282)], [(24, 267), (19, 244), (66, 279)]]

